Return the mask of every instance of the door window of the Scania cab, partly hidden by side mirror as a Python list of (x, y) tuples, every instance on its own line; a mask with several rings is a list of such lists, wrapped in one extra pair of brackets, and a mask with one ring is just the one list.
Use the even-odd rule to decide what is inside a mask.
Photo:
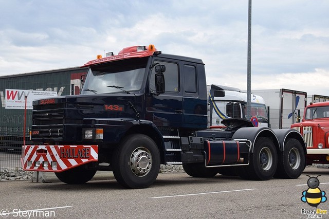
[[(178, 65), (176, 63), (171, 62), (163, 62), (155, 60), (154, 63), (160, 63), (161, 65), (166, 66), (166, 71), (163, 72), (165, 75), (165, 91), (166, 92), (179, 92), (179, 72), (178, 72)], [(155, 90), (155, 71), (152, 70), (152, 75), (150, 78), (150, 88), (151, 90)]]

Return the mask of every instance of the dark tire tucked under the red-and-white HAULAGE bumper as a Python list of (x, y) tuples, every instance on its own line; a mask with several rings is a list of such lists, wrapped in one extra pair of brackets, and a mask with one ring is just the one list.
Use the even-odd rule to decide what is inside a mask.
[(57, 178), (67, 184), (84, 184), (94, 177), (96, 170), (85, 169), (85, 166), (79, 166), (60, 173), (55, 173)]

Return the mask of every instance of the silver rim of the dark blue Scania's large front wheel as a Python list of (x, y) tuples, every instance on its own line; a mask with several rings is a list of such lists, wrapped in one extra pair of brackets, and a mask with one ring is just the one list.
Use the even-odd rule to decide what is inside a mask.
[(138, 177), (147, 175), (152, 168), (152, 155), (150, 151), (144, 147), (135, 149), (130, 156), (130, 168)]

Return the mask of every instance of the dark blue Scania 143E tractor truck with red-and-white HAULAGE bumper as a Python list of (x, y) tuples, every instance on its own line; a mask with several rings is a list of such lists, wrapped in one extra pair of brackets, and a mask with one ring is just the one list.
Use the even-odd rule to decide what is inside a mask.
[(225, 92), (212, 86), (208, 95), (200, 59), (133, 46), (83, 67), (80, 95), (33, 102), (34, 145), (22, 147), (24, 170), (54, 172), (67, 184), (113, 171), (120, 185), (137, 189), (153, 184), (161, 163), (182, 165), (193, 177), (251, 180), (297, 178), (305, 168), (296, 130), (241, 118), (211, 129), (209, 96)]

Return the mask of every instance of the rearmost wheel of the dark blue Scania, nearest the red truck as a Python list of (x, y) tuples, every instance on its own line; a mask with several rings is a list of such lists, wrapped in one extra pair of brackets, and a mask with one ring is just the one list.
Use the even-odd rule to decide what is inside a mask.
[(304, 169), (305, 155), (302, 144), (297, 139), (287, 139), (284, 144), (284, 151), (279, 153), (278, 168), (274, 177), (296, 179)]

